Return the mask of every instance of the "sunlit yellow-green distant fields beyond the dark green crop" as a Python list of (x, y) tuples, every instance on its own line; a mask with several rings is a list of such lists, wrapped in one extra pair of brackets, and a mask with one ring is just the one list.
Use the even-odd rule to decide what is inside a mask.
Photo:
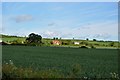
[[(25, 37), (3, 37), (2, 40), (4, 42), (8, 42), (8, 43), (11, 43), (11, 42), (14, 42), (14, 41), (17, 41), (19, 43), (22, 43), (25, 41)], [(43, 46), (54, 46), (51, 44), (51, 41), (53, 39), (48, 39), (48, 38), (43, 38), (42, 39), (42, 42), (44, 43)], [(61, 39), (60, 40), (61, 42), (67, 42), (68, 45), (59, 45), (61, 47), (80, 47), (82, 45), (86, 45), (87, 44), (87, 47), (91, 48), (91, 45), (94, 46), (95, 48), (102, 48), (102, 49), (117, 49), (118, 48), (118, 45), (120, 45), (120, 43), (118, 44), (117, 41), (113, 41), (114, 42), (114, 46), (110, 46), (110, 44), (112, 43), (112, 41), (92, 41), (92, 40), (73, 40), (73, 39)], [(84, 42), (84, 44), (79, 44), (79, 45), (74, 45), (73, 42)]]

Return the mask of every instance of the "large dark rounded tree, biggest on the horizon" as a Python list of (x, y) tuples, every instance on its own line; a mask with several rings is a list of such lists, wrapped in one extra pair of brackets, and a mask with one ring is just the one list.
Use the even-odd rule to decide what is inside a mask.
[(29, 34), (28, 38), (26, 38), (27, 43), (34, 43), (34, 44), (42, 43), (41, 40), (42, 40), (41, 35), (35, 33)]

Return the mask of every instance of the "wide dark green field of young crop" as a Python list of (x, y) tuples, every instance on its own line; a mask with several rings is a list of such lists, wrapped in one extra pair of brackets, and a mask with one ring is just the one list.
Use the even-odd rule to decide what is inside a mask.
[(12, 60), (17, 67), (55, 68), (67, 75), (73, 65), (79, 64), (79, 76), (109, 78), (118, 73), (117, 49), (3, 46), (2, 50), (3, 64)]

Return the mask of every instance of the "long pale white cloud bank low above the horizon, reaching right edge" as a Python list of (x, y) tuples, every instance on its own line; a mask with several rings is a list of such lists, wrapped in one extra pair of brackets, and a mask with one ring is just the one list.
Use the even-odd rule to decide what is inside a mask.
[[(65, 22), (65, 21), (64, 21)], [(71, 23), (66, 25), (63, 22), (54, 22), (57, 26), (48, 26), (38, 29), (37, 32), (44, 37), (62, 37), (62, 38), (96, 38), (103, 40), (111, 40), (112, 36), (118, 36), (118, 24), (115, 21), (86, 23), (79, 27), (71, 27)], [(52, 24), (52, 23), (51, 23)], [(61, 24), (61, 25), (60, 25)], [(62, 26), (62, 27), (60, 27)], [(63, 27), (64, 26), (64, 27)], [(78, 25), (77, 25), (78, 26)]]

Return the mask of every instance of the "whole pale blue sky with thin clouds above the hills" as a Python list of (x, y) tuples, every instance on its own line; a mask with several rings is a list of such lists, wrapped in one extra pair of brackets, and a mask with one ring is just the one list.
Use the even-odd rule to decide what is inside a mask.
[(8, 35), (117, 41), (118, 3), (3, 2), (0, 28)]

